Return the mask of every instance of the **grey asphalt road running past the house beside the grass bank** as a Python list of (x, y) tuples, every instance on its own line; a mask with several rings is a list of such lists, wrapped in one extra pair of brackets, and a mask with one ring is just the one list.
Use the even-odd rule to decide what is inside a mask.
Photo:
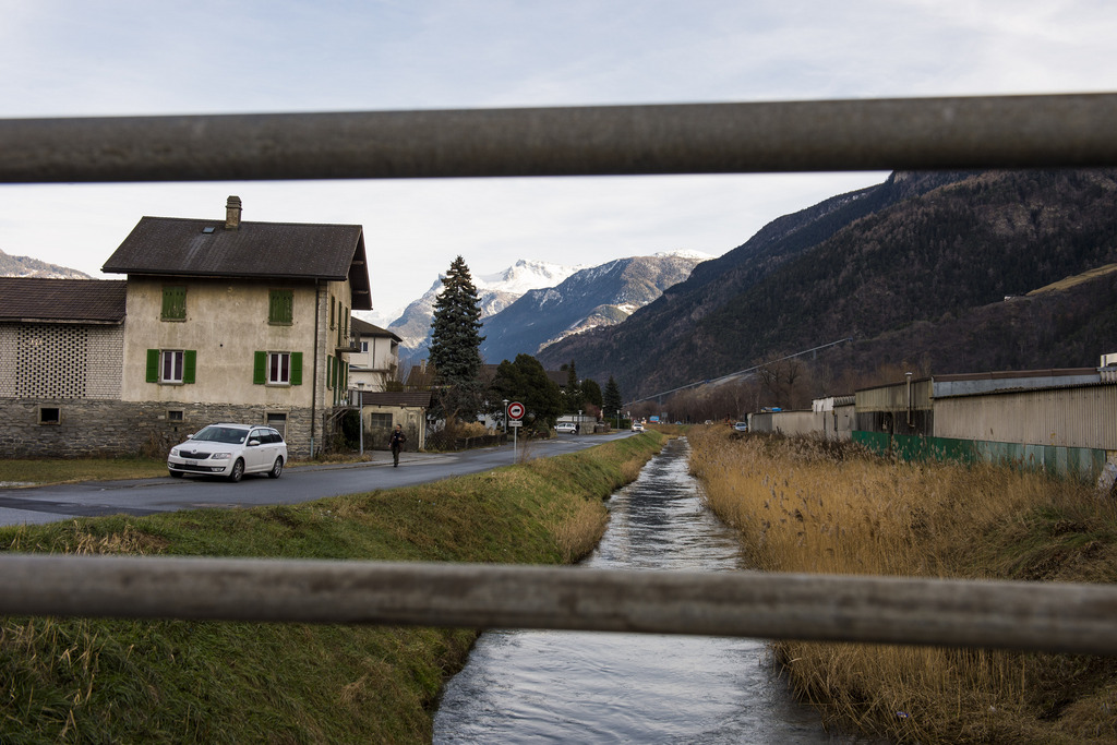
[[(527, 456), (544, 458), (574, 452), (594, 445), (631, 437), (612, 434), (569, 436), (534, 440)], [(519, 443), (518, 455), (524, 455)], [(510, 445), (454, 453), (404, 452), (399, 468), (391, 455), (376, 451), (369, 464), (297, 466), (278, 479), (246, 476), (239, 484), (206, 478), (172, 479), (170, 476), (127, 481), (85, 481), (59, 486), (0, 488), (0, 525), (52, 523), (97, 515), (152, 515), (199, 507), (256, 507), (292, 505), (322, 497), (390, 489), (438, 481), (450, 476), (475, 474), (514, 462)]]

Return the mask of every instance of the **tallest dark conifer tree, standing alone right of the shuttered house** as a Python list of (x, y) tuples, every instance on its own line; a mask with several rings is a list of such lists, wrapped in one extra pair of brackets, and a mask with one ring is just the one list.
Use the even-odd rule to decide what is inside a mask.
[(452, 427), (456, 420), (472, 421), (481, 408), (480, 382), (481, 308), (469, 267), (460, 256), (442, 277), (442, 292), (435, 302), (431, 322), (430, 363), (438, 385), (436, 414)]

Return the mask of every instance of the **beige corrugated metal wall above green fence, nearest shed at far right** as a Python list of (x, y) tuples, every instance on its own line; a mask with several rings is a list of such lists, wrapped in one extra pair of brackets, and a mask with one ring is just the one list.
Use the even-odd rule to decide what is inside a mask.
[(1117, 450), (1117, 385), (936, 399), (935, 437)]

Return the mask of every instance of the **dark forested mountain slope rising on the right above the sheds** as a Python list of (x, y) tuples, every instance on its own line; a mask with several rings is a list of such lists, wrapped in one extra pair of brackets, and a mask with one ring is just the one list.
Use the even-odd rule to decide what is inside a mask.
[[(1111, 275), (1011, 314), (995, 306), (1117, 261), (1115, 201), (1113, 169), (896, 172), (773, 220), (623, 324), (538, 357), (613, 375), (627, 400), (844, 337), (857, 341), (827, 353), (831, 378), (904, 361), (938, 372), (1096, 364), (1117, 338)], [(1060, 318), (1044, 315), (1054, 308)]]

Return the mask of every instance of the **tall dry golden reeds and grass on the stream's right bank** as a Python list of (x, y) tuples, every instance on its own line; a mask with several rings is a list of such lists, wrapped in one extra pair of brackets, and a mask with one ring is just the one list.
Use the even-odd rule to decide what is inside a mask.
[[(1117, 581), (1117, 508), (1034, 472), (881, 460), (849, 443), (688, 433), (691, 470), (761, 570)], [(1117, 742), (1117, 660), (780, 642), (831, 722), (900, 743)]]

